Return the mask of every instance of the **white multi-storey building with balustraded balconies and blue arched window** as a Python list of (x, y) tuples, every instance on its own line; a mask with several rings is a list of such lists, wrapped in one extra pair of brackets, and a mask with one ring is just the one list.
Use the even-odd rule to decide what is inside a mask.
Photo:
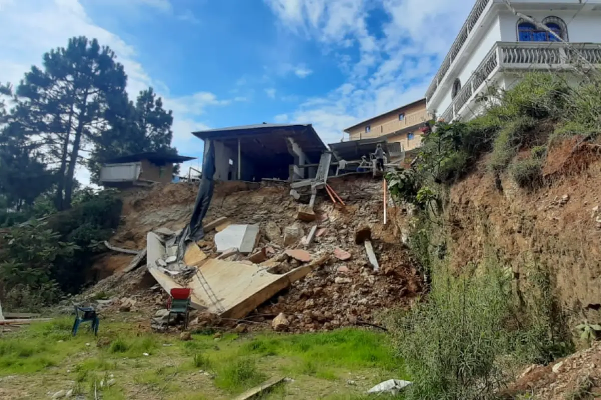
[(492, 83), (510, 88), (526, 70), (569, 71), (580, 58), (601, 64), (601, 0), (511, 0), (511, 7), (545, 23), (516, 16), (503, 0), (477, 0), (426, 92), (428, 112), (451, 121), (478, 113), (478, 94)]

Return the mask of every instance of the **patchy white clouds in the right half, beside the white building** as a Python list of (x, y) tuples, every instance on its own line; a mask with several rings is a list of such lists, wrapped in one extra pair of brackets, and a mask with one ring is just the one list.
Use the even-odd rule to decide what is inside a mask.
[[(334, 52), (346, 82), (288, 112), (326, 143), (342, 131), (424, 96), (473, 0), (264, 0), (282, 29)], [(368, 26), (374, 8), (389, 21)], [(372, 24), (374, 25), (374, 24)], [(376, 36), (374, 30), (380, 32)], [(356, 56), (356, 52), (359, 56)]]

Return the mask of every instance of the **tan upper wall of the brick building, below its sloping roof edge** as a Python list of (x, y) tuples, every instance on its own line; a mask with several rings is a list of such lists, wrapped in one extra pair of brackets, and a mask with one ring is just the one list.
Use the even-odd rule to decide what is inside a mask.
[[(404, 113), (403, 121), (398, 121), (398, 115)], [(409, 107), (401, 107), (394, 112), (386, 113), (366, 124), (358, 125), (350, 130), (349, 140), (368, 139), (370, 137), (380, 137), (386, 134), (400, 131), (412, 125), (419, 124), (429, 119), (426, 112), (426, 101), (414, 104)], [(365, 133), (365, 127), (370, 125), (370, 133)]]

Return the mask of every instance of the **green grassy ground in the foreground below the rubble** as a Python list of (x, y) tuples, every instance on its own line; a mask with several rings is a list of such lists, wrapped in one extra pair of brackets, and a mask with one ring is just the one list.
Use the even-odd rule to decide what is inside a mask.
[[(264, 399), (362, 399), (389, 378), (404, 378), (385, 335), (343, 329), (304, 335), (139, 333), (137, 324), (102, 321), (70, 336), (72, 320), (34, 324), (0, 338), (0, 398), (228, 399), (270, 377), (294, 381)], [(101, 344), (99, 346), (99, 344)], [(147, 354), (147, 355), (145, 355)], [(102, 381), (114, 379), (110, 387)]]

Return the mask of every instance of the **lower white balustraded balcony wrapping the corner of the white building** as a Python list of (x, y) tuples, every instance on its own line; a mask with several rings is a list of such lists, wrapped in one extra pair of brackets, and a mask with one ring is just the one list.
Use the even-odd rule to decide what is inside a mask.
[(463, 107), (481, 91), (486, 80), (499, 70), (572, 70), (575, 64), (584, 62), (583, 58), (590, 64), (601, 65), (601, 44), (497, 42), (457, 93), (451, 105), (442, 113), (441, 119), (453, 121), (459, 117)]

